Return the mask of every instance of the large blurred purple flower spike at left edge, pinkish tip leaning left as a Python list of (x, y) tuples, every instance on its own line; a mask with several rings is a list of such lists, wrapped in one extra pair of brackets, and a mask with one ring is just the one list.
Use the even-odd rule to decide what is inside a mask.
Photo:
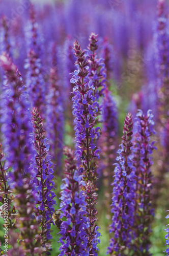
[[(3, 95), (1, 100), (2, 127), (7, 166), (10, 172), (10, 186), (22, 184), (22, 174), (29, 173), (32, 146), (30, 132), (32, 132), (30, 104), (23, 91), (24, 85), (21, 74), (7, 54), (1, 56), (1, 66), (6, 72)], [(5, 106), (5, 108), (4, 108)], [(26, 157), (25, 157), (26, 155)], [(19, 170), (19, 172), (16, 172)]]

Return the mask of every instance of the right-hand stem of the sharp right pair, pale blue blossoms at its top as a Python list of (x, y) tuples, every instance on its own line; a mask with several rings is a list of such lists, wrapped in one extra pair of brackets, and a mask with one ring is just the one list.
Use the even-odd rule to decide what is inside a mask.
[(136, 205), (134, 228), (136, 239), (134, 240), (134, 255), (151, 255), (150, 234), (151, 223), (153, 219), (153, 208), (151, 205), (152, 194), (152, 173), (153, 164), (150, 155), (156, 148), (154, 141), (151, 142), (151, 136), (155, 134), (152, 120), (153, 114), (148, 111), (146, 115), (141, 110), (136, 115), (135, 134), (133, 140), (133, 162), (136, 169)]

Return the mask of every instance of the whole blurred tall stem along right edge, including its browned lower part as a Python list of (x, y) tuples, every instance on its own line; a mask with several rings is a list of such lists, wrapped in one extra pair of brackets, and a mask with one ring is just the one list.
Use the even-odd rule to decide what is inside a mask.
[[(156, 24), (156, 52), (157, 52), (157, 132), (162, 148), (160, 150), (161, 164), (154, 180), (153, 204), (157, 206), (157, 199), (161, 196), (163, 187), (167, 187), (165, 175), (168, 172), (169, 151), (167, 134), (169, 122), (169, 36), (168, 36), (168, 19), (166, 14), (166, 1), (159, 0), (157, 4), (157, 24)], [(157, 138), (157, 139), (158, 139)]]

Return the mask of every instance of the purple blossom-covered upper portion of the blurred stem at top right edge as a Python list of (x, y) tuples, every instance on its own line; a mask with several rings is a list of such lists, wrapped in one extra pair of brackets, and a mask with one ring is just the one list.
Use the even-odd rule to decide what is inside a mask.
[(158, 19), (156, 25), (156, 69), (158, 75), (158, 112), (159, 120), (162, 122), (162, 125), (165, 126), (165, 123), (168, 119), (168, 108), (169, 108), (169, 36), (168, 36), (168, 21), (167, 15), (165, 13), (165, 1), (158, 1)]

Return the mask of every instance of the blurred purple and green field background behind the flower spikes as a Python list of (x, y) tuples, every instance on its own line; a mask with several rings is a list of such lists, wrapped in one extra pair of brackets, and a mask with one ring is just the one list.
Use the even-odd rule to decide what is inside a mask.
[[(65, 1), (32, 1), (35, 5), (38, 47), (45, 77), (50, 69), (51, 45), (57, 44), (58, 76), (63, 89), (69, 87), (70, 72), (74, 71), (72, 42), (76, 39), (83, 49), (87, 49), (89, 35), (98, 34), (98, 55), (103, 56), (107, 42), (110, 50), (109, 77), (110, 90), (118, 106), (119, 143), (122, 136), (124, 116), (137, 108), (146, 112), (153, 110), (157, 116), (157, 1), (156, 0), (65, 0)], [(0, 0), (0, 53), (5, 49), (3, 17), (7, 17), (7, 40), (11, 45), (10, 54), (23, 79), (26, 77), (25, 60), (30, 47), (30, 6), (28, 0)], [(168, 2), (166, 1), (166, 15)], [(104, 57), (104, 56), (103, 56)], [(46, 78), (47, 79), (47, 78)], [(66, 100), (66, 99), (65, 99)], [(73, 147), (73, 124), (71, 110), (65, 115), (64, 144)], [(157, 143), (160, 152), (161, 145)], [(118, 148), (117, 148), (118, 150)], [(156, 176), (161, 165), (159, 153), (154, 154), (153, 174)], [(60, 193), (60, 176), (57, 177), (57, 195)], [(168, 180), (167, 173), (165, 174)], [(101, 181), (100, 181), (101, 182)], [(167, 182), (166, 182), (167, 184)], [(152, 247), (154, 256), (162, 256), (164, 250), (165, 210), (169, 208), (167, 185), (159, 186), (159, 197), (152, 226)], [(157, 188), (158, 189), (158, 188)], [(110, 217), (104, 208), (104, 189), (98, 192), (98, 225), (101, 227), (99, 256), (105, 255), (108, 246), (108, 225)], [(59, 207), (59, 199), (56, 209)], [(1, 224), (3, 220), (1, 220)], [(53, 227), (52, 255), (59, 254), (59, 236)], [(0, 230), (3, 240), (4, 231)]]

